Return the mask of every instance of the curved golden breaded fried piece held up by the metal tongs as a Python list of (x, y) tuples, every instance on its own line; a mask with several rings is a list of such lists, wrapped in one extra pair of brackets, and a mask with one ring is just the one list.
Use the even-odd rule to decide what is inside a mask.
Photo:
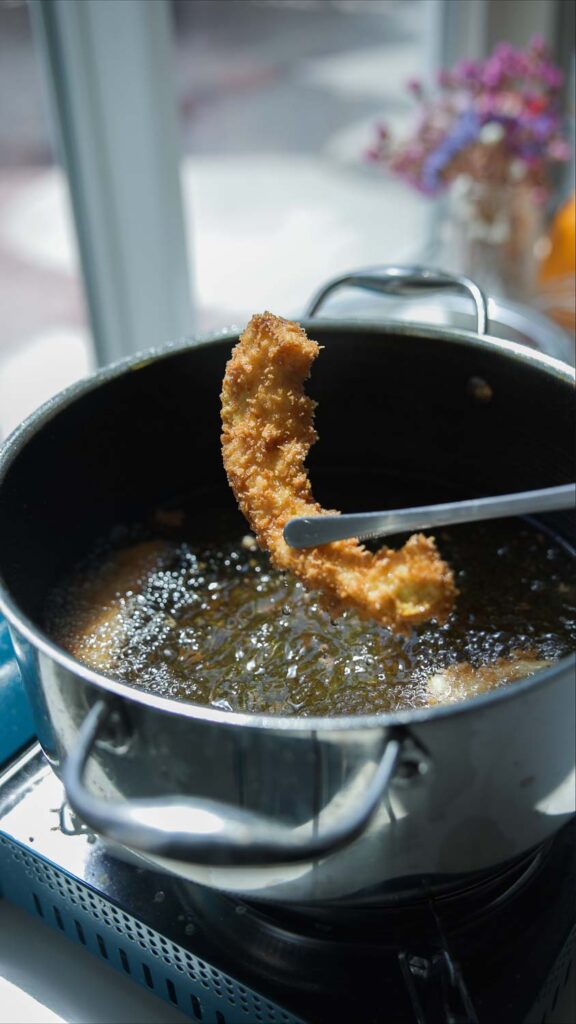
[(355, 540), (297, 551), (283, 539), (293, 516), (323, 514), (304, 467), (317, 435), (316, 403), (303, 383), (319, 351), (298, 324), (269, 312), (252, 317), (234, 349), (222, 386), (221, 440), (240, 508), (273, 563), (318, 590), (332, 614), (353, 608), (397, 633), (442, 621), (456, 590), (431, 539), (415, 535), (399, 551), (376, 554)]

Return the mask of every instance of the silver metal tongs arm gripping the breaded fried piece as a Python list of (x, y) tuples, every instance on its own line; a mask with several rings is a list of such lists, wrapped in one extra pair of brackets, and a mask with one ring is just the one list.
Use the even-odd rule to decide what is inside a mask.
[(386, 512), (353, 512), (345, 515), (298, 516), (284, 527), (284, 540), (291, 548), (316, 548), (332, 541), (355, 537), (367, 541), (390, 534), (411, 532), (431, 526), (448, 526), (481, 519), (501, 519), (530, 512), (553, 512), (576, 507), (576, 483), (540, 490), (524, 490), (495, 498), (472, 498), (445, 505), (420, 505)]

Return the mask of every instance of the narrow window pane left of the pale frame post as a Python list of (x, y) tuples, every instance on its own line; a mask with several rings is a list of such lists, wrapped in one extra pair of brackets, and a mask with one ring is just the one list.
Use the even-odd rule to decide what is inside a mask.
[(0, 2), (0, 438), (91, 365), (43, 90), (28, 7)]

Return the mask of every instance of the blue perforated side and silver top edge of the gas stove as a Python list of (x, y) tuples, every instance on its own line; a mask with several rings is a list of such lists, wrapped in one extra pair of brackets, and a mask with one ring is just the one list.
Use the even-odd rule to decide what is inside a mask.
[(0, 618), (0, 895), (202, 1024), (302, 1024), (204, 959), (169, 877), (111, 856), (68, 807)]

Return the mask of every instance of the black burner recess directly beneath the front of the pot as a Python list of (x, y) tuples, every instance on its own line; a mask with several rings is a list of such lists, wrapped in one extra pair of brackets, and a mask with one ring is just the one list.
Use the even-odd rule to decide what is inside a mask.
[[(362, 968), (371, 958), (414, 945), (436, 952), (447, 940), (482, 927), (498, 907), (538, 873), (549, 846), (532, 851), (467, 883), (443, 888), (418, 880), (412, 898), (367, 906), (346, 904), (279, 905), (249, 902), (197, 886), (182, 886), (190, 905), (224, 947), (234, 944), (243, 959), (276, 981), (301, 986), (306, 975), (316, 985), (324, 962), (332, 973), (351, 958)], [(336, 984), (337, 984), (336, 979)]]

